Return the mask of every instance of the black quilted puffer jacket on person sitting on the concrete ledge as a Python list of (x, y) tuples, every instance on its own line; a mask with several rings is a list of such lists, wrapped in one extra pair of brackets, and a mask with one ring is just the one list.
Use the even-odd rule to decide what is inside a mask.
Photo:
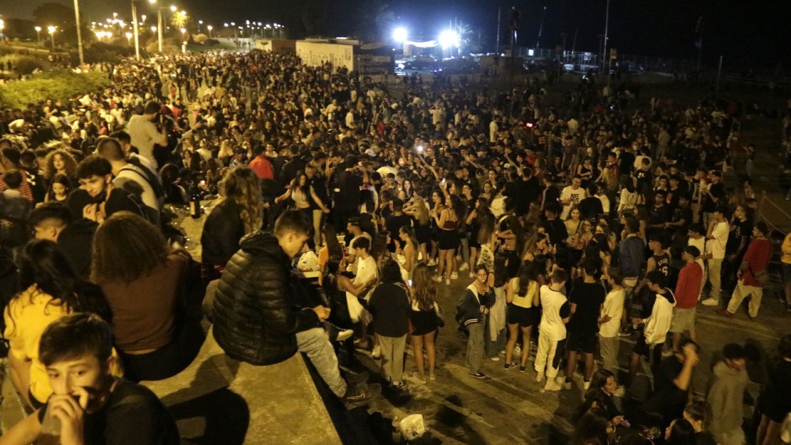
[(217, 288), (214, 338), (233, 359), (280, 363), (297, 352), (295, 333), (312, 328), (319, 318), (290, 303), (290, 261), (273, 234), (252, 234), (240, 247)]

